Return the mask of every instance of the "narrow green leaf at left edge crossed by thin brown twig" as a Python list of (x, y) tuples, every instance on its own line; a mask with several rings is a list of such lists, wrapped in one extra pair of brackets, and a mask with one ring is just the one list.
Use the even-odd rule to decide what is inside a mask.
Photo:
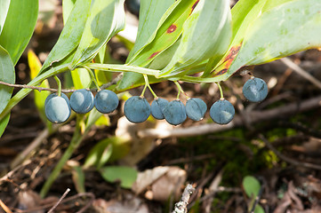
[[(0, 81), (5, 83), (15, 82), (14, 67), (8, 51), (0, 46)], [(0, 85), (0, 113), (7, 106), (12, 97), (13, 87)]]

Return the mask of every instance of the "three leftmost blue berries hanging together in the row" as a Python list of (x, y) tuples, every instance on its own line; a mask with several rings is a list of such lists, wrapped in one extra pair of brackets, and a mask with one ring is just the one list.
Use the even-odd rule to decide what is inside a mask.
[(92, 91), (81, 89), (73, 92), (70, 100), (64, 93), (61, 93), (61, 96), (52, 93), (45, 99), (44, 113), (49, 121), (60, 123), (68, 120), (71, 109), (77, 114), (86, 114), (95, 106), (100, 113), (108, 114), (116, 109), (118, 103), (114, 91), (98, 91), (93, 97)]

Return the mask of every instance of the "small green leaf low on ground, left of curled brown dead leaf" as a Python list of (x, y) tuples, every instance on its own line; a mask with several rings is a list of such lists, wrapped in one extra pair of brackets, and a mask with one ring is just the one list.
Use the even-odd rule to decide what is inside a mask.
[(120, 181), (124, 188), (131, 188), (135, 182), (138, 172), (131, 167), (108, 166), (100, 169), (101, 176), (108, 182)]

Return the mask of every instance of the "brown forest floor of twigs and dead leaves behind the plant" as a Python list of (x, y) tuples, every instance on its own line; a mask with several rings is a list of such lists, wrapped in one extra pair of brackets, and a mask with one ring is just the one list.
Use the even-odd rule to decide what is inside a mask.
[[(52, 22), (38, 24), (29, 44), (42, 62), (60, 34), (60, 15), (58, 7)], [(128, 54), (124, 44), (112, 39), (109, 46), (111, 56), (124, 62)], [(68, 147), (76, 122), (49, 133), (30, 93), (13, 108), (0, 138), (0, 212), (47, 212), (57, 203), (55, 212), (171, 212), (188, 184), (195, 188), (189, 212), (242, 213), (253, 207), (255, 212), (321, 212), (321, 88), (302, 73), (321, 82), (321, 51), (299, 52), (254, 67), (252, 74), (269, 86), (268, 98), (260, 103), (250, 103), (242, 94), (249, 75), (232, 76), (222, 87), (237, 114), (223, 126), (213, 123), (209, 113), (200, 122), (188, 119), (177, 127), (153, 119), (132, 124), (124, 119), (121, 100), (107, 117), (108, 126), (94, 126), (88, 132), (45, 198), (39, 193)], [(16, 76), (20, 84), (30, 80), (27, 54), (17, 64)], [(203, 99), (209, 107), (220, 99), (215, 83), (181, 86), (189, 97)], [(173, 83), (152, 87), (159, 97), (176, 97)], [(153, 99), (149, 92), (146, 98)], [(137, 180), (129, 187), (121, 183), (126, 178), (106, 181), (100, 170), (84, 168), (92, 147), (115, 136), (126, 138), (118, 151), (129, 151), (106, 165), (137, 170)], [(256, 197), (249, 197), (248, 190), (257, 192)]]

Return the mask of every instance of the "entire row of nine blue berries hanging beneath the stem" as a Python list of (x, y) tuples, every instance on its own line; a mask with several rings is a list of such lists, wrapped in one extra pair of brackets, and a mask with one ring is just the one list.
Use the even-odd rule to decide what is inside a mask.
[[(259, 102), (268, 95), (268, 86), (261, 78), (252, 77), (244, 87), (245, 98)], [(102, 113), (113, 112), (118, 106), (119, 100), (113, 91), (98, 91), (93, 97), (92, 92), (86, 89), (72, 93), (70, 100), (61, 93), (58, 96), (53, 93), (45, 99), (45, 114), (51, 122), (66, 122), (70, 116), (71, 109), (77, 114), (85, 114), (92, 110), (93, 106)], [(141, 96), (133, 96), (124, 103), (124, 115), (130, 122), (144, 122), (150, 114), (158, 120), (165, 119), (172, 125), (179, 125), (187, 117), (193, 121), (204, 118), (207, 106), (202, 99), (188, 99), (186, 106), (179, 99), (171, 102), (166, 99), (156, 98), (149, 105), (147, 99)], [(226, 99), (216, 101), (210, 108), (210, 116), (213, 122), (227, 124), (232, 121), (235, 114), (234, 106)]]

